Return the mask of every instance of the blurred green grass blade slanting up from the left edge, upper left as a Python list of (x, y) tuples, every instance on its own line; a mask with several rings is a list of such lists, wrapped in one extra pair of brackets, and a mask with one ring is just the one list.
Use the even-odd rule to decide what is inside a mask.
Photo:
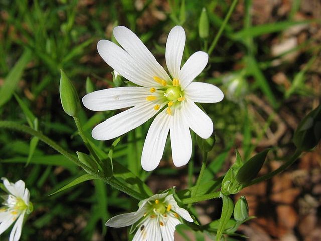
[(5, 78), (5, 82), (0, 89), (0, 107), (10, 100), (19, 80), (21, 79), (24, 69), (31, 60), (31, 57), (32, 52), (30, 50), (25, 50), (18, 62), (8, 73), (7, 77)]

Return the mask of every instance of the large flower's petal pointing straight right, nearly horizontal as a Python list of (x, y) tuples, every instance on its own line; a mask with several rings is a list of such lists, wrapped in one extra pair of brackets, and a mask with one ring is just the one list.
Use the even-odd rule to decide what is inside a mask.
[(222, 101), (224, 94), (213, 84), (192, 82), (185, 88), (184, 96), (197, 103), (217, 103)]

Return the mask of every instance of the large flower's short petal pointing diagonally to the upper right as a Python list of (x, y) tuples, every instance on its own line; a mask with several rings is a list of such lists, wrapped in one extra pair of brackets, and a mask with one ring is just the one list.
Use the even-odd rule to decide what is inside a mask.
[(209, 56), (207, 53), (198, 51), (192, 54), (179, 72), (181, 88), (185, 89), (207, 65)]

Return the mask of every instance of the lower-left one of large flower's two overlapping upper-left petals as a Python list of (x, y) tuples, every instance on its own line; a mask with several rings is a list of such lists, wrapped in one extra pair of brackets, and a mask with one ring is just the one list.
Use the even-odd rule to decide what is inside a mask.
[(97, 44), (98, 53), (114, 70), (131, 82), (144, 86), (155, 87), (153, 75), (143, 69), (122, 48), (109, 40), (100, 40)]

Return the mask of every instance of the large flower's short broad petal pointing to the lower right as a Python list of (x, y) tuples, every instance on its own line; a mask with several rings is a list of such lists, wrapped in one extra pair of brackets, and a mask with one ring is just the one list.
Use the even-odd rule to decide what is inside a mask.
[(192, 101), (185, 100), (182, 108), (183, 116), (188, 126), (201, 138), (209, 138), (213, 133), (213, 122)]

